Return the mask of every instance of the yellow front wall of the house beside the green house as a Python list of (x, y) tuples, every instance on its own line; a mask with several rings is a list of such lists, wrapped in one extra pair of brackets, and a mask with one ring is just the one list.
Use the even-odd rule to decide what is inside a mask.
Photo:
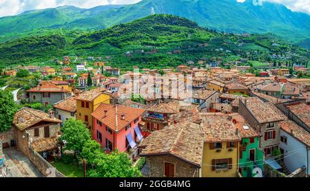
[[(227, 143), (223, 142), (222, 148), (210, 149), (209, 143), (205, 143), (203, 148), (202, 177), (237, 177), (239, 143), (235, 142), (235, 144), (236, 146), (234, 148), (227, 148)], [(214, 166), (214, 160), (229, 158), (231, 158), (231, 169), (216, 170), (212, 168)]]

